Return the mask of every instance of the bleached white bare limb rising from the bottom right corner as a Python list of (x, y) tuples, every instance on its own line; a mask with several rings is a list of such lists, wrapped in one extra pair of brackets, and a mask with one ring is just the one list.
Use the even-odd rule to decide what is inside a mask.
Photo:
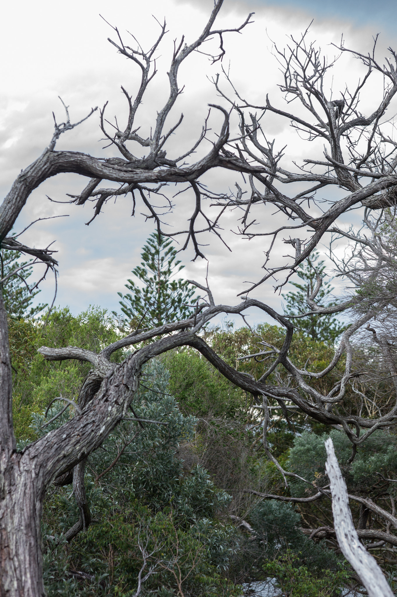
[(348, 490), (340, 472), (331, 438), (325, 442), (325, 450), (328, 456), (325, 470), (330, 479), (334, 528), (339, 547), (361, 578), (369, 597), (394, 597), (382, 570), (359, 541), (349, 508)]

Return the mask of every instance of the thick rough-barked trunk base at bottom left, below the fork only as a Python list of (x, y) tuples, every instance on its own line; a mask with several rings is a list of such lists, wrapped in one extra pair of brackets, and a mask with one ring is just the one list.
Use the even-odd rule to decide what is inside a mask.
[(2, 463), (0, 494), (0, 595), (42, 597), (42, 496), (36, 491), (35, 464), (21, 454)]

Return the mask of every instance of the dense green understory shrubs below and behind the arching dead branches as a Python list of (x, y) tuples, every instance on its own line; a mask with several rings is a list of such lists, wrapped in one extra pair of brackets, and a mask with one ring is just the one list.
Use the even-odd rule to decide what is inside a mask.
[[(57, 398), (75, 402), (89, 371), (89, 364), (79, 361), (44, 361), (37, 348), (82, 346), (98, 352), (120, 331), (119, 322), (97, 307), (76, 317), (65, 308), (47, 319), (10, 318), (9, 325), (14, 426), (22, 450), (73, 417), (69, 404), (49, 422), (68, 404)], [(242, 357), (258, 352), (260, 341), (283, 342), (280, 328), (268, 324), (249, 330), (226, 322), (204, 334), (225, 361), (256, 377), (263, 362)], [(290, 350), (302, 366), (310, 355), (311, 370), (321, 370), (333, 347), (302, 331)], [(125, 356), (119, 350), (113, 359)], [(335, 383), (337, 375), (336, 368), (334, 378), (312, 383), (327, 391), (321, 384)], [(272, 376), (277, 383), (286, 373), (275, 370)], [(358, 398), (350, 390), (344, 408), (362, 408)], [(292, 407), (285, 419), (278, 405), (273, 407), (267, 436), (272, 453), (309, 484), (294, 478), (284, 486), (263, 450), (258, 405), (199, 353), (185, 347), (151, 361), (131, 420), (119, 424), (88, 458), (91, 525), (69, 543), (64, 540), (79, 518), (72, 479), (52, 486), (46, 496), (42, 533), (48, 595), (237, 597), (266, 578), (275, 578), (282, 594), (293, 597), (343, 595), (343, 587), (355, 586), (358, 579), (334, 536), (330, 498), (291, 504), (265, 496), (308, 497), (326, 485), (324, 439), (331, 435), (349, 493), (393, 501), (395, 484), (386, 479), (397, 476), (397, 438), (393, 432), (373, 433), (349, 464), (351, 444), (339, 429), (309, 424)], [(157, 423), (138, 423), (136, 417)], [(367, 528), (382, 527), (359, 505), (353, 507), (358, 528), (365, 515)], [(315, 529), (320, 530), (312, 536)], [(392, 577), (394, 548), (376, 557)]]

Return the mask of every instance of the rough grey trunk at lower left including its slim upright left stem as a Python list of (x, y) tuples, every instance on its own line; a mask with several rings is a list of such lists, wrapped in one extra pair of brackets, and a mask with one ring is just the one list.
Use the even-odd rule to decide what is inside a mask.
[(0, 595), (42, 597), (44, 491), (35, 458), (17, 453), (8, 325), (0, 288)]

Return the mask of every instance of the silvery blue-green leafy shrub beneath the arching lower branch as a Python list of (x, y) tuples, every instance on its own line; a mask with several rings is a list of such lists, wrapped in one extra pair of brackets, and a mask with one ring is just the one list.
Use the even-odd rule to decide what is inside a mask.
[(88, 464), (94, 470), (107, 469), (118, 451), (136, 435), (117, 466), (104, 476), (101, 482), (104, 492), (113, 493), (118, 486), (123, 491), (128, 489), (139, 500), (150, 501), (155, 509), (172, 504), (180, 516), (210, 516), (214, 509), (226, 506), (231, 498), (215, 490), (209, 475), (200, 466), (193, 467), (190, 475), (183, 474), (183, 462), (176, 450), (180, 444), (193, 439), (197, 420), (181, 413), (175, 398), (168, 393), (168, 386), (168, 371), (160, 360), (154, 359), (145, 367), (132, 407), (139, 418), (167, 425), (144, 423), (141, 429), (135, 421), (125, 421), (116, 427), (101, 449), (91, 455)]

